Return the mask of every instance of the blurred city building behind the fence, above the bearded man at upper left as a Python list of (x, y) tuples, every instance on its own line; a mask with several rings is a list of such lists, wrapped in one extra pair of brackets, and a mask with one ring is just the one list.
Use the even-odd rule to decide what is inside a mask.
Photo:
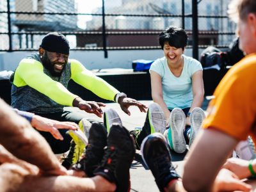
[[(61, 14), (76, 13), (74, 0), (15, 0), (15, 11), (31, 12), (16, 14), (13, 24), (18, 31), (77, 30), (77, 15)], [(13, 41), (19, 41), (19, 48), (35, 48), (41, 39), (42, 35), (27, 33), (14, 36)]]

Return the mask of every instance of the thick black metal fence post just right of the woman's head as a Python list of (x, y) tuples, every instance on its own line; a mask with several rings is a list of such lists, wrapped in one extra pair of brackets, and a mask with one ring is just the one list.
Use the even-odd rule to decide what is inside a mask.
[(192, 23), (193, 23), (193, 58), (198, 60), (198, 15), (197, 0), (192, 0)]

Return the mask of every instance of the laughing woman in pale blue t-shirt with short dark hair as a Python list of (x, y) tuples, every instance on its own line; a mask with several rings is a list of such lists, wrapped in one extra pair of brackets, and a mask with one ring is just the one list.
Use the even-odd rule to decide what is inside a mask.
[[(184, 55), (187, 42), (188, 35), (184, 29), (170, 26), (161, 32), (159, 44), (164, 57), (154, 61), (149, 70), (152, 99), (163, 109), (166, 124), (170, 127), (165, 135), (171, 148), (179, 153), (186, 150), (186, 143), (189, 142), (190, 146), (193, 141), (193, 136), (188, 141), (191, 125), (189, 116), (192, 110), (197, 108), (198, 116), (204, 118), (204, 111), (200, 109), (204, 100), (202, 65), (199, 61)], [(191, 128), (193, 135), (196, 127)], [(147, 134), (143, 129), (133, 133), (138, 143), (137, 147), (140, 148), (141, 141)]]

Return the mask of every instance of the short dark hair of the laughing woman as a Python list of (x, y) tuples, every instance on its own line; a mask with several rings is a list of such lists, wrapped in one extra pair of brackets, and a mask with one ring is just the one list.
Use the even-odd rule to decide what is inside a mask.
[(170, 26), (159, 34), (159, 45), (161, 45), (162, 49), (164, 49), (165, 42), (168, 42), (172, 47), (182, 48), (184, 50), (188, 42), (188, 35), (184, 29)]

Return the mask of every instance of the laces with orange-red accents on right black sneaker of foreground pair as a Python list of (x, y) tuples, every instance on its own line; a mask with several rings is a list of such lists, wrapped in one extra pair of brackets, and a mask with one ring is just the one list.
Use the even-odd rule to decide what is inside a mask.
[(111, 171), (115, 171), (115, 164), (116, 164), (116, 148), (115, 147), (106, 147), (105, 155), (102, 159), (101, 166), (108, 167)]

